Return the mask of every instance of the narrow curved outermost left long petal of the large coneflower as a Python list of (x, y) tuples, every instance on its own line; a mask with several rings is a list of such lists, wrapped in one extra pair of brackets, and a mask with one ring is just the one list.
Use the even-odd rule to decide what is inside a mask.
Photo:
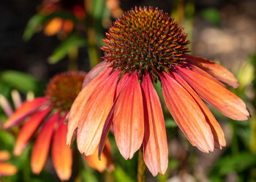
[(86, 87), (84, 87), (83, 90), (78, 94), (78, 97), (72, 104), (72, 107), (69, 112), (67, 145), (70, 146), (72, 142), (72, 136), (78, 127), (78, 122), (83, 112), (84, 105), (86, 104), (91, 94), (95, 91), (95, 88), (108, 77), (111, 71), (112, 69), (108, 68), (107, 70), (102, 72), (102, 74), (99, 74), (99, 76), (97, 76), (89, 84), (87, 84)]

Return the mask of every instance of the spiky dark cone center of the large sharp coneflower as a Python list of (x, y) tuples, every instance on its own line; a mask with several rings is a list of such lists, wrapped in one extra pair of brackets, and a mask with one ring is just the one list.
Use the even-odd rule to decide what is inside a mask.
[(137, 72), (138, 77), (150, 74), (153, 80), (173, 64), (185, 60), (189, 52), (187, 33), (167, 13), (152, 7), (135, 7), (119, 17), (104, 39), (105, 60), (114, 69)]

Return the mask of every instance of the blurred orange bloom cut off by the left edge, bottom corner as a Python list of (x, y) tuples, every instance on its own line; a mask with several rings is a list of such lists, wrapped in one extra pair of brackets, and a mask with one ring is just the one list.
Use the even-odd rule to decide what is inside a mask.
[(17, 173), (17, 168), (14, 165), (4, 162), (9, 160), (10, 157), (8, 151), (0, 151), (0, 177), (2, 175), (15, 175)]

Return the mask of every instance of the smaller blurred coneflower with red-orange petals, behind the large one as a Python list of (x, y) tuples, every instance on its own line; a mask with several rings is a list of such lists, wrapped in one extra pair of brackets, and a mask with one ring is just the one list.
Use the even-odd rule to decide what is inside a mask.
[[(48, 157), (50, 143), (52, 143), (51, 154), (53, 166), (62, 181), (70, 178), (72, 173), (72, 150), (67, 146), (67, 124), (65, 120), (73, 100), (82, 88), (84, 72), (71, 71), (58, 74), (49, 82), (45, 97), (34, 98), (24, 102), (11, 114), (4, 128), (10, 128), (25, 120), (15, 143), (14, 154), (19, 156), (31, 136), (39, 128), (31, 154), (31, 169), (33, 173), (39, 174)], [(3, 104), (2, 104), (3, 105)], [(8, 111), (7, 105), (4, 107)], [(10, 109), (9, 109), (10, 110)], [(99, 171), (107, 167), (113, 167), (110, 159), (110, 143), (102, 155), (105, 161), (98, 162), (95, 154), (86, 157), (89, 165)], [(111, 169), (111, 168), (110, 168)]]

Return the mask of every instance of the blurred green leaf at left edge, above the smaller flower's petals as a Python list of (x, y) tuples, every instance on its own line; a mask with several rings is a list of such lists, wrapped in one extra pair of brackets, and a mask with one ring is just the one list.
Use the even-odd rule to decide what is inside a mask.
[(4, 71), (0, 74), (0, 81), (5, 82), (14, 87), (17, 90), (20, 90), (23, 93), (32, 91), (34, 93), (42, 92), (42, 82), (34, 79), (33, 76), (29, 74), (24, 74), (19, 71)]

